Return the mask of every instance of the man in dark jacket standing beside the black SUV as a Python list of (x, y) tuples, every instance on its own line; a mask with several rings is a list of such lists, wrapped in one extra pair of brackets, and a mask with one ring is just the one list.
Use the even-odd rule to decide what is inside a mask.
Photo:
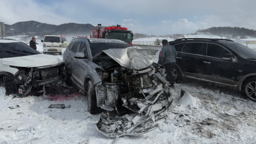
[(169, 81), (171, 87), (174, 88), (174, 85), (173, 85), (174, 79), (172, 77), (172, 71), (173, 71), (173, 68), (175, 68), (176, 66), (175, 57), (177, 55), (177, 51), (172, 45), (168, 44), (167, 40), (163, 40), (162, 44), (163, 44), (163, 48), (161, 50), (160, 59), (164, 64), (164, 67), (167, 73), (166, 80)]

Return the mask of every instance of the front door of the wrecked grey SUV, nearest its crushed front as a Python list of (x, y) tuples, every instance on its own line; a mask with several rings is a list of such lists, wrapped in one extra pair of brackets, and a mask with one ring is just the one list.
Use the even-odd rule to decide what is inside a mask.
[[(89, 45), (89, 44), (88, 44)], [(84, 83), (84, 77), (89, 74), (88, 69), (88, 50), (87, 50), (87, 42), (82, 42), (79, 48), (79, 52), (83, 52), (86, 59), (78, 59), (76, 60), (76, 72), (74, 73), (77, 78), (78, 84), (82, 87)]]

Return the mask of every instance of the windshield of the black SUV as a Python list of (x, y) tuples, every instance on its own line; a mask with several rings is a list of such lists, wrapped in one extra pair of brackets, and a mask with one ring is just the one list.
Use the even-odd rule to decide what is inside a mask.
[(242, 44), (228, 44), (229, 48), (235, 51), (240, 57), (245, 59), (256, 59), (256, 53), (252, 49)]

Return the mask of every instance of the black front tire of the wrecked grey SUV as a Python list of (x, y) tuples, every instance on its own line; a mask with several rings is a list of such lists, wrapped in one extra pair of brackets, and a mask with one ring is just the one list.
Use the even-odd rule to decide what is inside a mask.
[(97, 107), (97, 98), (96, 98), (96, 91), (95, 87), (92, 83), (92, 81), (88, 81), (88, 91), (87, 91), (87, 97), (88, 97), (88, 108), (87, 110), (91, 114), (97, 114), (100, 113), (100, 108)]

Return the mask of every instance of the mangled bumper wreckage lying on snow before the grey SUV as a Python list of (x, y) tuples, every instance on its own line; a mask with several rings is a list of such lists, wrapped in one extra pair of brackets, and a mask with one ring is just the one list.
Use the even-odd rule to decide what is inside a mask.
[(162, 89), (162, 84), (160, 87), (145, 99), (129, 99), (140, 107), (139, 111), (128, 107), (128, 103), (123, 104), (133, 113), (114, 118), (111, 118), (109, 113), (101, 113), (100, 120), (94, 126), (103, 135), (116, 138), (123, 135), (141, 135), (156, 129), (158, 122), (165, 120), (161, 113), (169, 108), (173, 101), (170, 91), (167, 91), (168, 96), (164, 95), (166, 89)]

